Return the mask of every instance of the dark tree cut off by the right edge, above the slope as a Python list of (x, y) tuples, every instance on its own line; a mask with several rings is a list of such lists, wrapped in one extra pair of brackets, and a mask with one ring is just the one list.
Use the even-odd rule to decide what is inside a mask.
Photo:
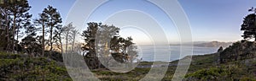
[[(249, 10), (249, 12), (251, 11), (252, 10)], [(243, 37), (245, 40), (256, 37), (256, 14), (255, 13), (250, 13), (244, 18), (243, 24), (241, 24), (241, 30), (243, 30), (243, 35), (241, 35), (241, 37)], [(256, 38), (254, 39), (254, 41), (256, 41)]]

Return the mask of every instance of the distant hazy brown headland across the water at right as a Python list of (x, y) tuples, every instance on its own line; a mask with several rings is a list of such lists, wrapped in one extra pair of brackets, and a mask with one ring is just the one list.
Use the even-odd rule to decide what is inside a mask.
[(194, 44), (194, 46), (203, 46), (203, 47), (228, 47), (232, 44), (232, 42), (219, 42), (219, 41), (211, 41), (207, 43)]

